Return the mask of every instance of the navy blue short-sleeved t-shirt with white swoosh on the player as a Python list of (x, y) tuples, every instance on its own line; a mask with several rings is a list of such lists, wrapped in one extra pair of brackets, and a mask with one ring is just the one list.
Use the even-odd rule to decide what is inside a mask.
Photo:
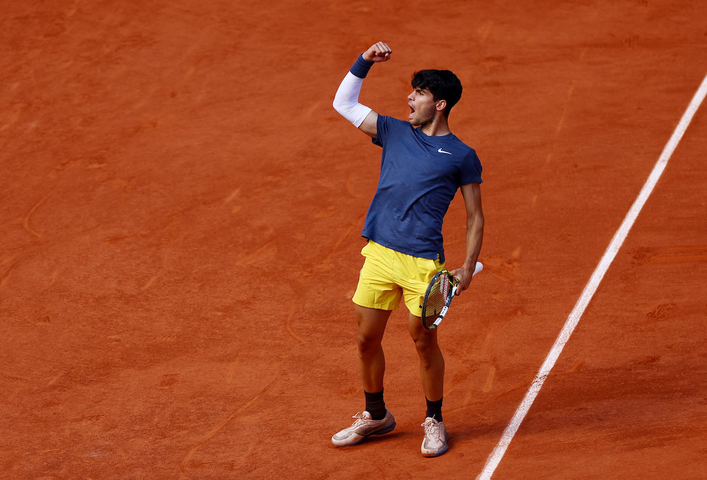
[(477, 153), (452, 133), (427, 136), (382, 115), (373, 143), (383, 148), (380, 179), (361, 235), (401, 253), (445, 261), (442, 220), (460, 186), (481, 183)]

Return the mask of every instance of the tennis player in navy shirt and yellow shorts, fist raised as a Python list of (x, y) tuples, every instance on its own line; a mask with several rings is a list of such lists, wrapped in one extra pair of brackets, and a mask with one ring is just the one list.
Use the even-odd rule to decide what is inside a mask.
[(355, 445), (395, 428), (395, 418), (383, 400), (381, 340), (390, 312), (403, 299), (426, 397), (421, 452), (436, 457), (448, 450), (449, 438), (442, 417), (444, 357), (437, 342), (438, 329), (427, 330), (421, 323), (422, 299), (428, 282), (445, 268), (442, 220), (459, 189), (467, 210), (467, 235), (464, 263), (452, 270), (459, 279), (457, 294), (472, 281), (484, 235), (481, 163), (448, 126), (450, 110), (462, 95), (459, 79), (448, 70), (414, 73), (407, 121), (378, 115), (358, 102), (370, 67), (390, 60), (391, 54), (383, 42), (363, 52), (334, 97), (334, 109), (382, 147), (382, 159), (378, 190), (362, 233), (368, 239), (361, 251), (366, 260), (353, 299), (366, 409), (354, 416), (354, 424), (332, 436), (332, 443)]

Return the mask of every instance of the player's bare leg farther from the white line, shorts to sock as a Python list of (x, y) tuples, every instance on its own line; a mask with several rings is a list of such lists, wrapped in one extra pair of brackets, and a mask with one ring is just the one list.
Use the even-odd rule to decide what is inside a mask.
[(390, 310), (356, 305), (358, 366), (363, 390), (366, 392), (383, 390), (385, 355), (381, 342), (389, 317)]

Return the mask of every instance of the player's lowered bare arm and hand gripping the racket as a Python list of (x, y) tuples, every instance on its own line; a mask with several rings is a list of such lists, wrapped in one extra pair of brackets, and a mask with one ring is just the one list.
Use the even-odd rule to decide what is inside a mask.
[(467, 253), (462, 268), (452, 270), (452, 275), (459, 279), (457, 295), (469, 288), (474, 275), (474, 267), (481, 251), (484, 239), (484, 211), (481, 210), (481, 185), (466, 184), (460, 187), (464, 206), (467, 209)]

